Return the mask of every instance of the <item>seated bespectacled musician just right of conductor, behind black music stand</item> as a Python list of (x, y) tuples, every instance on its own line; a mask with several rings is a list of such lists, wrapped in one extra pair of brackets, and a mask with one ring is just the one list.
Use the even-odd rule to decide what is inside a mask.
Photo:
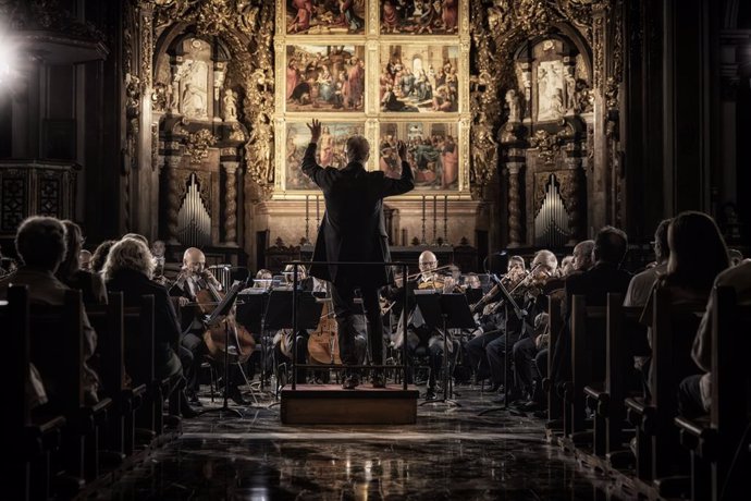
[[(418, 266), (420, 273), (414, 280), (407, 280), (404, 285), (408, 291), (408, 308), (409, 320), (407, 326), (407, 350), (410, 358), (416, 356), (428, 356), (430, 365), (430, 376), (428, 378), (428, 390), (426, 398), (433, 400), (435, 393), (436, 375), (440, 372), (443, 365), (443, 334), (438, 328), (427, 326), (422, 315), (415, 308), (415, 290), (435, 290), (444, 291), (444, 288), (451, 292), (454, 289), (454, 282), (450, 279), (439, 276), (435, 272), (438, 268), (438, 258), (435, 254), (430, 250), (424, 250), (418, 258)], [(384, 295), (390, 301), (399, 302), (403, 294), (403, 289), (392, 286), (384, 292)], [(401, 305), (398, 305), (401, 307)], [(451, 334), (451, 332), (448, 333)], [(454, 352), (454, 341), (451, 335), (447, 335), (448, 353)], [(403, 343), (402, 328), (397, 327), (396, 335), (394, 338), (394, 346), (399, 347)], [(451, 358), (451, 357), (450, 357)]]

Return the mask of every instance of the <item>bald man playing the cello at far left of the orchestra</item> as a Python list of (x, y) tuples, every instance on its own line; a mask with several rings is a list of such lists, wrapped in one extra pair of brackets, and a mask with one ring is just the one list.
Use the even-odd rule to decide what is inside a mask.
[[(170, 288), (170, 295), (180, 297), (180, 317), (182, 327), (181, 344), (193, 354), (193, 362), (189, 369), (185, 371), (187, 379), (186, 393), (190, 403), (200, 405), (196, 392), (199, 389), (198, 375), (204, 358), (208, 356), (209, 350), (204, 342), (204, 333), (206, 332), (206, 325), (204, 317), (207, 313), (214, 309), (214, 304), (199, 304), (198, 294), (200, 291), (206, 291), (213, 288), (221, 292), (222, 285), (217, 278), (206, 269), (206, 255), (196, 247), (189, 247), (183, 254), (183, 267), (175, 279), (175, 282)], [(205, 313), (207, 311), (207, 313)], [(184, 359), (187, 363), (186, 359)], [(212, 364), (221, 365), (222, 361), (209, 361)], [(220, 370), (220, 374), (222, 371)], [(227, 388), (230, 398), (238, 405), (245, 405), (246, 402), (238, 388), (238, 381), (242, 375), (232, 364), (230, 367), (230, 386)]]

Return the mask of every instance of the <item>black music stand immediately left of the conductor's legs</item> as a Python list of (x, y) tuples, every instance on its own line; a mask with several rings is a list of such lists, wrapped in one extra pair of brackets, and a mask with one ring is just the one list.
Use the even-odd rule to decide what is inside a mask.
[[(297, 291), (297, 321), (295, 322), (292, 314), (292, 289), (278, 290), (274, 289), (269, 294), (269, 303), (266, 306), (266, 328), (267, 329), (293, 329), (297, 326), (298, 330), (317, 329), (318, 322), (321, 319), (321, 310), (323, 304), (316, 301), (316, 296), (310, 291)], [(293, 340), (297, 338), (297, 332), (293, 332)], [(293, 341), (293, 351), (296, 350), (296, 343)], [(292, 354), (293, 359), (296, 357)], [(274, 367), (275, 369), (275, 367)], [(297, 378), (297, 367), (294, 368), (293, 379)], [(274, 396), (279, 395), (279, 377), (276, 378), (276, 388), (274, 389)]]

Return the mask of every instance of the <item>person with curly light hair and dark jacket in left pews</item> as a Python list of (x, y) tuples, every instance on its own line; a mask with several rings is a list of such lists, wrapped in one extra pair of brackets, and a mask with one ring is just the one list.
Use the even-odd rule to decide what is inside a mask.
[[(170, 379), (170, 390), (183, 391), (183, 363), (175, 350), (180, 342), (180, 323), (170, 295), (163, 285), (152, 280), (155, 269), (153, 256), (148, 246), (138, 239), (123, 239), (110, 248), (102, 274), (107, 290), (123, 293), (125, 306), (138, 306), (144, 295), (153, 296), (153, 365), (157, 379)], [(189, 354), (187, 364), (189, 365)], [(183, 357), (185, 359), (185, 357)], [(137, 381), (147, 383), (149, 381)], [(180, 399), (180, 412), (184, 417), (194, 417), (187, 399)], [(172, 413), (177, 408), (170, 410)]]

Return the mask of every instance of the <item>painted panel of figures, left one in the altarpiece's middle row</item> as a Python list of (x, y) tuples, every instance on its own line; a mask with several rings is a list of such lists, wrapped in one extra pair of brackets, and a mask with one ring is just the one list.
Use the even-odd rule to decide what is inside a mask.
[(287, 111), (365, 111), (365, 47), (293, 45), (286, 49)]

